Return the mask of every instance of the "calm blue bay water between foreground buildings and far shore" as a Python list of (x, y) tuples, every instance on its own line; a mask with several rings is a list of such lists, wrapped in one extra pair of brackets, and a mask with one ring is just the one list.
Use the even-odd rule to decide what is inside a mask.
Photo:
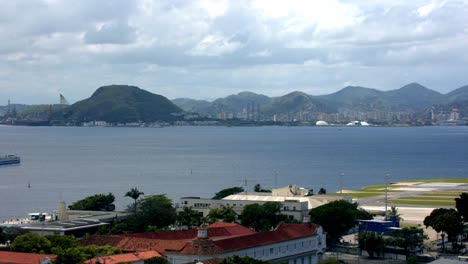
[[(467, 177), (468, 127), (167, 127), (0, 126), (0, 219), (50, 212), (112, 192), (117, 209), (138, 187), (145, 194), (211, 197), (231, 186), (252, 190), (297, 184), (329, 192), (418, 178)], [(28, 182), (31, 188), (28, 188)]]

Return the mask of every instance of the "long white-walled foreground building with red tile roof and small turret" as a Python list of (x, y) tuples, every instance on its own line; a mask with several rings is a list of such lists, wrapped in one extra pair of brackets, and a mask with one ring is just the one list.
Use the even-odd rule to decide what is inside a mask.
[(232, 256), (270, 262), (315, 264), (326, 249), (325, 234), (315, 224), (281, 224), (257, 233), (232, 223), (215, 223), (198, 230), (93, 236), (85, 245), (111, 245), (126, 252), (155, 250), (174, 264), (206, 262)]

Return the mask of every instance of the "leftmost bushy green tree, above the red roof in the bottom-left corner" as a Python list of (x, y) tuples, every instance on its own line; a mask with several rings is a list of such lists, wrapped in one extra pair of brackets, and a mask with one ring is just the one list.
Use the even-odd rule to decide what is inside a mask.
[(50, 253), (51, 243), (47, 238), (39, 234), (27, 233), (18, 236), (10, 247), (17, 252), (48, 254)]

